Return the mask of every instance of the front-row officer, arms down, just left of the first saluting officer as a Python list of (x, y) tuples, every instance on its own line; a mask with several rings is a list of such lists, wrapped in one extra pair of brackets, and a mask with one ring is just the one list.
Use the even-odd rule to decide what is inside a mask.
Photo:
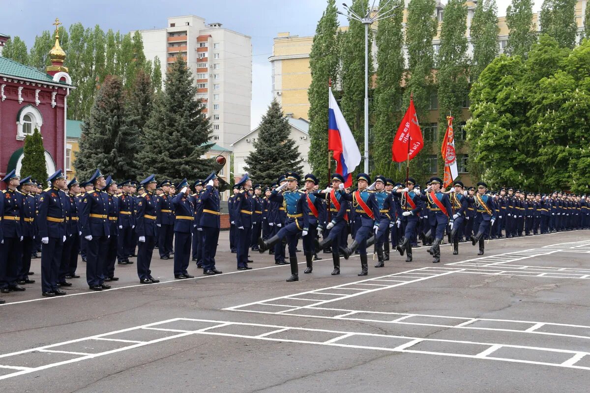
[(141, 181), (145, 192), (137, 197), (136, 232), (138, 236), (137, 248), (137, 276), (142, 284), (158, 283), (152, 277), (149, 269), (152, 263), (153, 247), (156, 243), (156, 204), (158, 203), (155, 193), (155, 175), (151, 174)]

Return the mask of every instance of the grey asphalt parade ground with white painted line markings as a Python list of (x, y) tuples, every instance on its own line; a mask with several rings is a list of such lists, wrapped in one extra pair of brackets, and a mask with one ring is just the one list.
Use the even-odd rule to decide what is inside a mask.
[[(301, 244), (299, 246), (301, 248)], [(319, 253), (312, 274), (219, 251), (224, 274), (140, 285), (117, 265), (93, 292), (79, 262), (67, 296), (37, 280), (1, 297), (0, 392), (588, 392), (590, 230), (391, 252), (369, 276), (358, 256)], [(228, 233), (218, 250), (228, 250)]]

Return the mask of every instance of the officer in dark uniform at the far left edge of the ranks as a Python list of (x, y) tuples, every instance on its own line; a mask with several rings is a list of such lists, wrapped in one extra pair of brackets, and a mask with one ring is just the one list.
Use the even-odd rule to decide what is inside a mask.
[(22, 242), (22, 194), (17, 191), (20, 178), (16, 171), (6, 174), (4, 183), (8, 188), (2, 191), (4, 199), (4, 213), (2, 226), (4, 242), (0, 245), (0, 292), (11, 290), (22, 291), (24, 287), (18, 285), (17, 279), (21, 266)]

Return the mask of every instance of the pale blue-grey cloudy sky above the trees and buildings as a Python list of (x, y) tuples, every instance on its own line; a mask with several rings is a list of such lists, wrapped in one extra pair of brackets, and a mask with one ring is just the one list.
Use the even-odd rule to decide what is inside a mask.
[[(352, 0), (346, 2), (350, 4)], [(510, 0), (497, 2), (499, 15), (506, 15)], [(542, 0), (535, 0), (535, 11), (540, 4)], [(30, 48), (36, 35), (53, 29), (51, 24), (56, 17), (66, 27), (81, 22), (84, 27), (98, 24), (104, 31), (112, 28), (121, 32), (166, 27), (168, 16), (192, 14), (208, 23), (221, 22), (225, 28), (252, 37), (251, 126), (255, 127), (271, 100), (268, 57), (273, 51), (273, 38), (284, 31), (313, 35), (325, 7), (324, 0), (2, 0), (0, 32), (11, 37), (18, 35)], [(340, 24), (348, 22), (341, 19)]]

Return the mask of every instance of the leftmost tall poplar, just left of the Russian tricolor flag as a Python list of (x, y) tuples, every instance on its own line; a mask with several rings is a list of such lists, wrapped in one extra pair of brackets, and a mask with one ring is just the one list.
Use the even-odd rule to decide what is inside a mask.
[[(338, 20), (335, 0), (328, 0), (326, 9), (317, 22), (313, 37), (312, 51), (309, 54), (309, 68), (312, 83), (307, 90), (309, 100), (309, 161), (314, 174), (322, 180), (327, 179), (327, 131), (328, 131), (328, 80), (337, 80), (339, 47), (337, 42)], [(322, 154), (322, 152), (324, 154)]]

